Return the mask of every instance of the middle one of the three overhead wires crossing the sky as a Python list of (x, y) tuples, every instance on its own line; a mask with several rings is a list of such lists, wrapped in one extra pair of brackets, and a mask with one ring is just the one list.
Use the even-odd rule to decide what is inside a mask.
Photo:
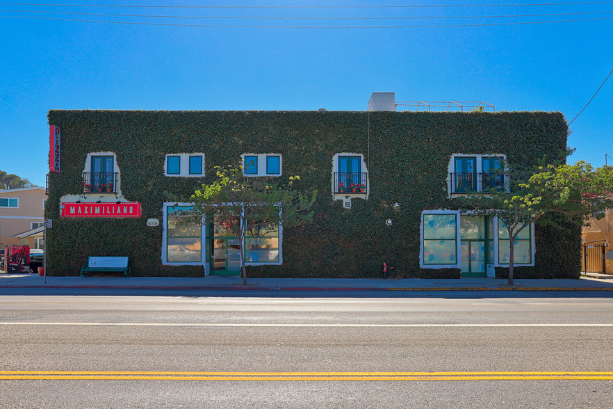
[(609, 14), (613, 11), (586, 11), (580, 13), (551, 13), (551, 14), (521, 14), (521, 15), (473, 15), (473, 16), (430, 16), (430, 17), (219, 17), (200, 15), (142, 15), (142, 14), (108, 14), (108, 13), (74, 13), (67, 11), (40, 11), (40, 10), (0, 10), (0, 13), (40, 13), (40, 14), (67, 14), (67, 15), (96, 15), (104, 17), (159, 17), (177, 19), (288, 19), (288, 20), (402, 20), (402, 19), (489, 19), (514, 17), (554, 17), (561, 15), (594, 15)]

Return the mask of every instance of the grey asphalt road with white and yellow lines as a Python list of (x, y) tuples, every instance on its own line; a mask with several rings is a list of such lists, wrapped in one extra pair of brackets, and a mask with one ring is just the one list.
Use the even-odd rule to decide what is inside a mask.
[(0, 407), (613, 408), (611, 339), (585, 296), (0, 296)]

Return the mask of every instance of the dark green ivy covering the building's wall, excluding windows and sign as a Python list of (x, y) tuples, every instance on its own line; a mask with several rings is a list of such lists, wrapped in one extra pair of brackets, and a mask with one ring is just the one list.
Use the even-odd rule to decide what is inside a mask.
[[(459, 278), (459, 268), (420, 267), (423, 211), (458, 209), (448, 195), (452, 154), (505, 154), (535, 163), (566, 148), (561, 113), (428, 113), (358, 111), (49, 111), (61, 129), (61, 172), (49, 174), (45, 217), (47, 273), (78, 275), (88, 256), (129, 256), (132, 275), (195, 277), (202, 266), (162, 264), (167, 192), (193, 193), (213, 167), (241, 154), (282, 156), (282, 179), (318, 190), (313, 223), (283, 232), (281, 265), (249, 266), (250, 277), (379, 278), (382, 262), (395, 278)], [(139, 218), (61, 218), (60, 198), (81, 193), (88, 154), (114, 152), (122, 194), (140, 202)], [(165, 176), (165, 156), (203, 152), (204, 177)], [(333, 200), (335, 154), (361, 155), (368, 198), (350, 209)], [(398, 204), (396, 206), (395, 204)], [(391, 220), (391, 224), (386, 223)], [(537, 226), (534, 266), (516, 278), (578, 278), (580, 230)], [(503, 277), (506, 268), (496, 268)]]

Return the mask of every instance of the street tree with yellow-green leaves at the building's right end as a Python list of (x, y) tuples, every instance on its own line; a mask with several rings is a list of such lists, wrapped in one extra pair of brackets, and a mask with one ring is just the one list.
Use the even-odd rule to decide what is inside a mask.
[(505, 163), (496, 177), (501, 182), (493, 189), (459, 200), (464, 211), (496, 216), (504, 223), (509, 235), (509, 285), (513, 285), (514, 242), (530, 223), (565, 229), (564, 223), (583, 225), (589, 216), (602, 218), (603, 210), (613, 207), (612, 166), (594, 169), (585, 161), (566, 165), (562, 159), (543, 158), (532, 167)]

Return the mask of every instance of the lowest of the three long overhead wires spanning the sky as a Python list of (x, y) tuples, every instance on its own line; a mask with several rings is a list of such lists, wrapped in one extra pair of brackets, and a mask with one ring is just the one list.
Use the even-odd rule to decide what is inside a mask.
[(551, 20), (548, 22), (509, 22), (509, 23), (483, 23), (483, 24), (432, 24), (425, 26), (245, 26), (238, 24), (177, 24), (177, 23), (144, 23), (144, 22), (108, 22), (103, 20), (86, 19), (63, 19), (57, 17), (36, 17), (36, 16), (0, 16), (4, 19), (44, 19), (58, 20), (65, 22), (87, 22), (87, 23), (107, 23), (107, 24), (136, 24), (143, 26), (182, 26), (182, 27), (211, 27), (211, 28), (231, 28), (231, 29), (430, 29), (443, 27), (484, 27), (484, 26), (514, 26), (521, 24), (548, 24), (548, 23), (568, 23), (568, 22), (587, 22), (594, 20), (607, 20), (613, 17), (595, 17), (591, 19), (568, 19)]

